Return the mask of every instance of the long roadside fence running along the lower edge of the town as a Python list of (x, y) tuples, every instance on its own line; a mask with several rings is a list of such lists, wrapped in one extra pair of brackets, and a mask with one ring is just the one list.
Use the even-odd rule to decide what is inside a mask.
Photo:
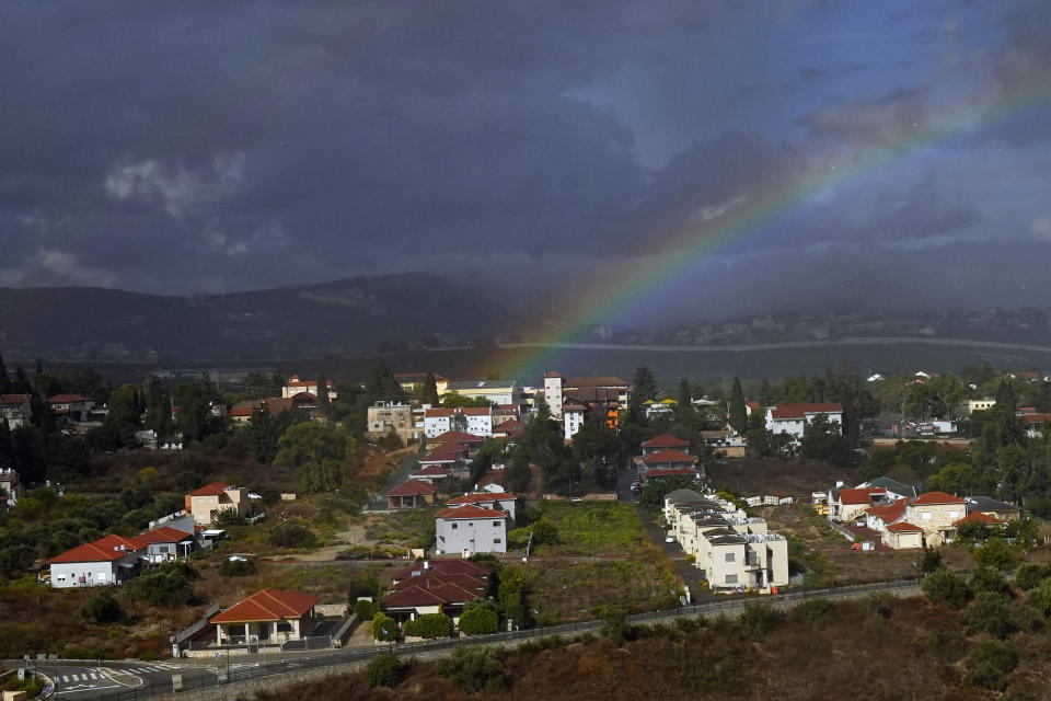
[[(890, 591), (902, 595), (913, 595), (920, 593), (919, 579), (905, 579), (901, 582), (885, 582), (876, 584), (859, 584), (834, 589), (796, 589), (786, 591), (774, 597), (764, 597), (762, 599), (749, 595), (724, 596), (712, 601), (703, 604), (693, 604), (679, 606), (673, 609), (662, 611), (651, 611), (647, 613), (636, 613), (626, 618), (630, 623), (655, 623), (663, 620), (672, 620), (683, 617), (712, 616), (729, 611), (738, 611), (744, 608), (750, 601), (765, 601), (777, 608), (789, 608), (798, 601), (812, 598), (830, 599), (850, 599), (858, 598), (876, 591)], [(418, 655), (423, 653), (450, 650), (462, 645), (495, 645), (501, 643), (518, 643), (538, 637), (547, 637), (551, 635), (573, 635), (585, 631), (593, 631), (602, 627), (601, 619), (591, 619), (578, 621), (575, 623), (564, 623), (562, 625), (547, 625), (544, 628), (532, 628), (522, 631), (510, 631), (504, 633), (492, 633), (488, 635), (472, 635), (471, 637), (447, 639), (436, 641), (424, 641), (419, 643), (407, 643), (390, 645), (389, 647), (370, 647), (365, 650), (342, 650), (327, 653), (320, 653), (310, 656), (281, 657), (274, 659), (279, 653), (269, 653), (264, 658), (255, 663), (231, 663), (229, 654), (223, 656), (221, 653), (208, 666), (183, 667), (173, 670), (182, 675), (182, 689), (189, 691), (193, 689), (203, 689), (218, 685), (232, 683), (236, 681), (246, 681), (259, 677), (273, 675), (282, 675), (287, 673), (302, 671), (307, 669), (316, 669), (321, 667), (334, 667), (336, 665), (361, 664), (368, 662), (376, 655), (386, 652), (393, 652), (399, 655)], [(238, 656), (232, 657), (233, 660)], [(50, 675), (60, 670), (61, 667), (53, 667), (49, 664), (42, 665), (38, 671)], [(192, 674), (196, 673), (196, 674)], [(57, 671), (57, 674), (61, 674)], [(51, 677), (54, 678), (54, 677)], [(61, 689), (59, 689), (61, 691)], [(148, 680), (143, 686), (123, 689), (117, 692), (100, 691), (97, 694), (92, 692), (79, 692), (78, 701), (130, 701), (132, 699), (149, 699), (151, 697), (172, 693), (172, 681), (170, 679)]]

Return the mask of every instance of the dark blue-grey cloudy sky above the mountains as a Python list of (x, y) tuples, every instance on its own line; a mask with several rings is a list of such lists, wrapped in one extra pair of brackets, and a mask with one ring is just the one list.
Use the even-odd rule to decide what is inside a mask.
[(1046, 0), (5, 2), (0, 285), (573, 295), (776, 184), (625, 318), (1049, 306), (1049, 36)]

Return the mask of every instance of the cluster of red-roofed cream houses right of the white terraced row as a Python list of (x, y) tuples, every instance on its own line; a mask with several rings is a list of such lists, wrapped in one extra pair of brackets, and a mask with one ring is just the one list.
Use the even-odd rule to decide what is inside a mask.
[(867, 529), (893, 550), (937, 548), (952, 542), (962, 524), (995, 526), (1020, 516), (1017, 506), (990, 497), (920, 492), (889, 478), (852, 489), (835, 487), (820, 496), (830, 520)]

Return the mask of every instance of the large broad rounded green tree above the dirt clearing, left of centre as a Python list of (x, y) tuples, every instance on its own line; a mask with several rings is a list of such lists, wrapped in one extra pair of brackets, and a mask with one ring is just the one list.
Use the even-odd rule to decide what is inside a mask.
[(343, 468), (354, 448), (354, 439), (331, 424), (293, 424), (278, 440), (274, 463), (292, 468), (304, 492), (331, 491), (343, 484)]

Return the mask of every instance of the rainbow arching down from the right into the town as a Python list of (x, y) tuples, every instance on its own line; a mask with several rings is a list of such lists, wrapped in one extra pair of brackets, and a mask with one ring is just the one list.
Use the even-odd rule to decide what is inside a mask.
[(630, 246), (614, 256), (599, 281), (571, 298), (559, 300), (558, 310), (540, 314), (539, 319), (561, 318), (568, 321), (538, 322), (523, 330), (521, 344), (508, 344), (510, 350), (494, 356), (488, 372), (518, 377), (529, 381), (539, 377), (561, 348), (580, 338), (599, 325), (609, 324), (625, 309), (638, 306), (656, 295), (673, 290), (686, 281), (686, 274), (731, 242), (755, 235), (760, 230), (798, 210), (811, 198), (834, 192), (865, 174), (900, 161), (922, 147), (965, 136), (981, 127), (1002, 122), (1020, 111), (1041, 105), (1051, 96), (1051, 81), (1037, 87), (1000, 92), (995, 100), (973, 100), (965, 106), (937, 112), (922, 126), (878, 145), (848, 150), (809, 166), (790, 183), (774, 183), (747, 199), (739, 198), (721, 206), (706, 221), (681, 223), (672, 230), (654, 230), (638, 237), (636, 249), (652, 241), (663, 241), (659, 251)]

